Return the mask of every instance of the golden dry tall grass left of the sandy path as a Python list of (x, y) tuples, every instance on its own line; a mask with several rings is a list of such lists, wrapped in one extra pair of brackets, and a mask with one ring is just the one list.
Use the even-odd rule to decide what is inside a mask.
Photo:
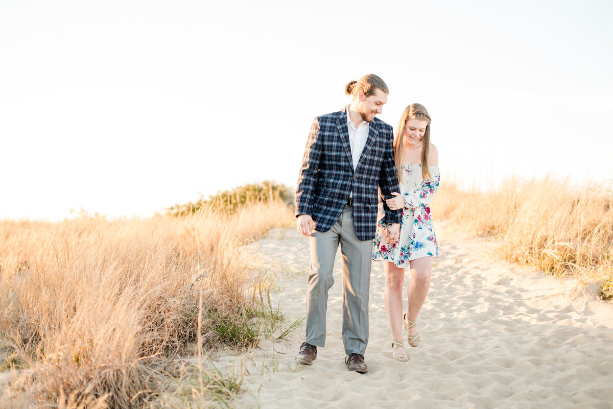
[(145, 407), (188, 345), (255, 345), (270, 283), (234, 249), (294, 220), (272, 201), (231, 215), (0, 221), (0, 347), (22, 369), (0, 403)]

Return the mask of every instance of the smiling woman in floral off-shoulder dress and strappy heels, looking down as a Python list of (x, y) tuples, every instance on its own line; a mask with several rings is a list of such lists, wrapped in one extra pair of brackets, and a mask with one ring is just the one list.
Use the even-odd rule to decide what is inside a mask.
[[(394, 159), (400, 193), (392, 193), (393, 197), (388, 198), (386, 204), (392, 210), (403, 209), (400, 235), (392, 236), (391, 230), (379, 218), (373, 260), (384, 262), (384, 299), (392, 330), (392, 358), (406, 362), (402, 320), (408, 331), (409, 345), (418, 347), (421, 336), (417, 315), (430, 288), (432, 258), (440, 255), (428, 207), (440, 181), (438, 150), (430, 143), (430, 114), (419, 103), (406, 107), (400, 118), (394, 137)], [(383, 211), (383, 204), (379, 206)], [(411, 269), (411, 283), (406, 291), (408, 308), (403, 313), (402, 289), (406, 267)]]

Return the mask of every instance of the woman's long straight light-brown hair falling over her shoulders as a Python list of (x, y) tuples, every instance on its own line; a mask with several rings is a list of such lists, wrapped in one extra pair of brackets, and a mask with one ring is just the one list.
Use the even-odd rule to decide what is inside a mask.
[(428, 114), (428, 110), (425, 109), (424, 105), (421, 103), (411, 103), (408, 107), (405, 108), (405, 111), (402, 113), (400, 117), (400, 122), (398, 122), (398, 128), (396, 129), (396, 134), (394, 135), (394, 160), (396, 162), (396, 169), (398, 171), (398, 181), (402, 182), (402, 168), (400, 166), (403, 162), (403, 145), (405, 143), (405, 129), (406, 129), (406, 121), (409, 119), (417, 119), (417, 121), (426, 121), (428, 122), (425, 127), (424, 137), (422, 138), (422, 157), (421, 157), (421, 165), (422, 165), (422, 179), (424, 181), (432, 178), (430, 175), (430, 167), (428, 165), (428, 155), (430, 154), (430, 114)]

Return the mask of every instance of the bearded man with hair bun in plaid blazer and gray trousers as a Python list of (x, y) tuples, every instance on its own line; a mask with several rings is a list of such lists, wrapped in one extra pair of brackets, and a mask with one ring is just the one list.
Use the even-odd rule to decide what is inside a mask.
[[(378, 194), (399, 192), (394, 135), (375, 118), (387, 102), (386, 83), (368, 74), (345, 89), (353, 101), (313, 121), (296, 191), (297, 229), (310, 237), (307, 334), (296, 361), (312, 365), (326, 342), (328, 290), (340, 242), (343, 254), (343, 345), (349, 370), (367, 373), (368, 290)], [(388, 237), (397, 238), (402, 211), (386, 212)]]

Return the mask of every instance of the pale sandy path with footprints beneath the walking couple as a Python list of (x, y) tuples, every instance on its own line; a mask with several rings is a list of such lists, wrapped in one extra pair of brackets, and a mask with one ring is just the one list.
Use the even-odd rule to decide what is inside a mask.
[[(613, 306), (536, 272), (492, 261), (479, 241), (449, 241), (435, 261), (419, 316), (422, 346), (390, 357), (381, 263), (370, 288), (368, 374), (349, 372), (340, 339), (340, 260), (330, 292), (326, 348), (294, 364), (303, 326), (246, 358), (241, 408), (613, 408)], [(459, 244), (461, 243), (461, 246)], [(246, 247), (278, 272), (283, 310), (305, 315), (308, 240), (291, 230)], [(340, 253), (340, 252), (339, 252)], [(408, 279), (405, 282), (407, 285)], [(280, 298), (281, 293), (283, 295)], [(405, 332), (406, 334), (406, 332)]]

